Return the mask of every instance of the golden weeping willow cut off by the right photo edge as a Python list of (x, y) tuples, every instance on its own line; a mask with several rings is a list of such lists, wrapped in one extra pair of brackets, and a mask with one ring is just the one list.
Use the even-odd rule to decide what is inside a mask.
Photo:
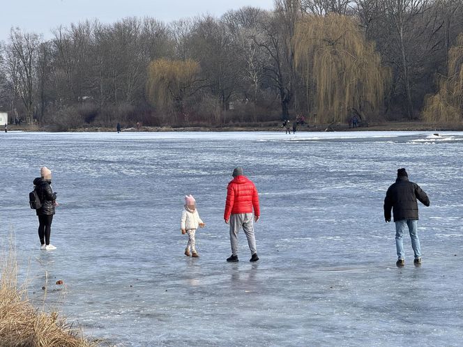
[(463, 121), (463, 34), (448, 51), (448, 76), (439, 79), (439, 92), (427, 96), (423, 119), (430, 123)]

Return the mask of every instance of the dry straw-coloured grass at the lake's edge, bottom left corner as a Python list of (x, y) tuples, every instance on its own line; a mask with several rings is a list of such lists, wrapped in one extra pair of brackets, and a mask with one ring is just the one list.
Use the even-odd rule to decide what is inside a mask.
[(56, 311), (46, 313), (33, 307), (25, 286), (17, 283), (13, 242), (8, 249), (0, 251), (0, 276), (0, 346), (99, 346), (68, 325)]

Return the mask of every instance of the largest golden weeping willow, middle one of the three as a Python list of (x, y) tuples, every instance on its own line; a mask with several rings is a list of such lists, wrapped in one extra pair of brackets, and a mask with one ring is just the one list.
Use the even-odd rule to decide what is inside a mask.
[(335, 13), (304, 17), (296, 26), (294, 53), (309, 110), (320, 123), (352, 113), (365, 120), (365, 111), (383, 105), (390, 71), (353, 19)]

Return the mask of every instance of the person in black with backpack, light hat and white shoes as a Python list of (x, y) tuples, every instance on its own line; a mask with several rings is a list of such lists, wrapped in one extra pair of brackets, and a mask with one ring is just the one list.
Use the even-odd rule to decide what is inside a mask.
[(50, 244), (52, 233), (52, 221), (56, 203), (56, 193), (52, 191), (52, 171), (47, 167), (40, 168), (40, 177), (33, 180), (42, 207), (36, 210), (38, 215), (38, 237), (40, 238), (40, 249), (56, 249)]

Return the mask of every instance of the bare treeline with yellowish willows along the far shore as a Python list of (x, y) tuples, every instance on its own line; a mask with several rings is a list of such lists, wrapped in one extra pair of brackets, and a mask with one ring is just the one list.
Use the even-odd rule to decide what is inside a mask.
[(276, 0), (52, 33), (12, 29), (0, 43), (13, 119), (66, 130), (463, 118), (463, 0)]

